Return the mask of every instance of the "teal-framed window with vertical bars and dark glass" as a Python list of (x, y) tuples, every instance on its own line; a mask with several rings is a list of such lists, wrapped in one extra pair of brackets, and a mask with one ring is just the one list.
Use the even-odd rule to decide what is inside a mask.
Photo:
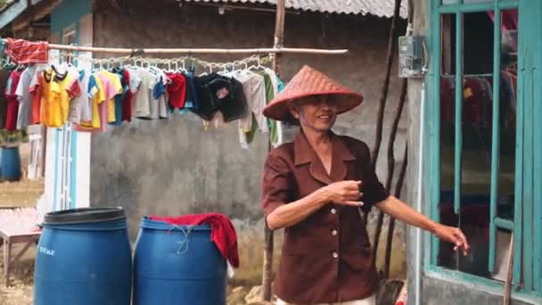
[(533, 143), (542, 139), (533, 130), (542, 122), (532, 106), (542, 99), (521, 87), (535, 78), (518, 72), (521, 1), (433, 1), (432, 22), (439, 27), (432, 58), (439, 64), (431, 79), (438, 103), (430, 106), (430, 214), (461, 227), (472, 251), (464, 257), (433, 238), (431, 264), (504, 282), (514, 235), (513, 284), (540, 293), (542, 245), (535, 227), (541, 213), (535, 203), (542, 202), (534, 198), (542, 193), (542, 175), (533, 165), (542, 155)]

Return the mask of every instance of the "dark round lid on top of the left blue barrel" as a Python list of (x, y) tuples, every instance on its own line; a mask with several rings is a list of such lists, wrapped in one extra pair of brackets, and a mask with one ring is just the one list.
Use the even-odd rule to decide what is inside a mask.
[(124, 209), (115, 208), (80, 208), (58, 210), (45, 214), (44, 225), (68, 225), (89, 222), (101, 222), (125, 218)]

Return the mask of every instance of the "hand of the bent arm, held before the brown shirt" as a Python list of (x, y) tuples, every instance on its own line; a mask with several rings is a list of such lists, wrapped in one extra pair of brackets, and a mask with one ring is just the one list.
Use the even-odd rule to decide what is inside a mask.
[(360, 207), (363, 205), (363, 202), (360, 202), (363, 195), (359, 191), (361, 184), (361, 181), (340, 181), (322, 187), (320, 192), (327, 202)]

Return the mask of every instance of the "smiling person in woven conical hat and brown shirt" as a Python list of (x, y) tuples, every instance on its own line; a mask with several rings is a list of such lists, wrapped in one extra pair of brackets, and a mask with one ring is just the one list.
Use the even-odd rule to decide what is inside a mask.
[(275, 278), (279, 304), (375, 304), (375, 268), (359, 208), (374, 205), (455, 243), (464, 255), (469, 250), (460, 229), (431, 221), (385, 191), (367, 144), (333, 134), (337, 115), (362, 101), (305, 66), (264, 110), (269, 119), (299, 122), (301, 128), (293, 143), (269, 152), (264, 169), (267, 226), (285, 228)]

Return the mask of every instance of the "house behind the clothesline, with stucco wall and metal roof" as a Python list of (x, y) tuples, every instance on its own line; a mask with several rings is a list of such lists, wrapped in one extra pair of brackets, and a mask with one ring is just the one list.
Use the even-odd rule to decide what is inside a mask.
[[(285, 45), (348, 48), (349, 53), (284, 54), (281, 77), (288, 80), (303, 64), (310, 64), (362, 91), (364, 104), (341, 116), (336, 131), (373, 144), (393, 1), (286, 3)], [(0, 21), (4, 37), (30, 37), (29, 33), (37, 37), (37, 24), (48, 23), (49, 32), (41, 38), (62, 44), (269, 47), (274, 40), (274, 5), (271, 0), (20, 0), (12, 1), (6, 9), (17, 11), (0, 15)], [(406, 3), (401, 16), (406, 17)], [(403, 32), (404, 20), (399, 25)], [(240, 58), (196, 56), (215, 62)], [(400, 91), (397, 68), (393, 71), (386, 126), (390, 125)], [(402, 155), (405, 146), (406, 120), (400, 126), (397, 155)], [(385, 128), (384, 139), (388, 132), (389, 128)], [(243, 267), (236, 278), (259, 280), (264, 227), (259, 189), (267, 136), (257, 136), (248, 150), (242, 149), (237, 139), (235, 124), (205, 131), (201, 121), (189, 114), (171, 120), (135, 120), (103, 134), (49, 128), (44, 202), (53, 209), (122, 206), (127, 210), (133, 238), (144, 215), (209, 210), (226, 213), (234, 219), (240, 236)], [(382, 178), (386, 162), (383, 142), (379, 162)], [(398, 230), (398, 236), (401, 232)], [(396, 244), (398, 249), (404, 247), (402, 242)]]

